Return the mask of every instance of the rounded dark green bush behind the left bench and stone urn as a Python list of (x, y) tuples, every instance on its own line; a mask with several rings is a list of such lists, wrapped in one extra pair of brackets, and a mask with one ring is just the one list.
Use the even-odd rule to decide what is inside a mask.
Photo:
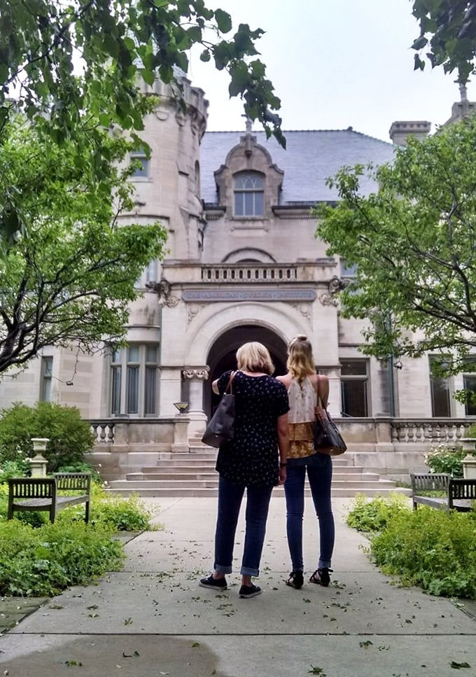
[(44, 456), (48, 472), (83, 461), (94, 445), (90, 426), (76, 407), (38, 402), (34, 407), (17, 403), (0, 415), (0, 463), (33, 455), (31, 438), (49, 438)]

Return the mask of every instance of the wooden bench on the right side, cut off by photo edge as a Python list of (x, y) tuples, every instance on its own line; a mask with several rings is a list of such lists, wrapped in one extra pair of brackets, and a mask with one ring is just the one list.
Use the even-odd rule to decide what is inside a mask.
[[(440, 510), (469, 512), (472, 501), (476, 501), (476, 480), (463, 480), (444, 473), (410, 473), (410, 478), (414, 510), (420, 503)], [(433, 491), (444, 492), (444, 496), (428, 496)]]

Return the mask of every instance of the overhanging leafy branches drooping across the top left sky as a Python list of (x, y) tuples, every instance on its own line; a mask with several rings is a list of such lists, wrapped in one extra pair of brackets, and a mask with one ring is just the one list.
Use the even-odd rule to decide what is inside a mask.
[(203, 61), (228, 71), (230, 96), (283, 143), (265, 66), (247, 60), (263, 31), (241, 24), (225, 39), (231, 30), (230, 15), (204, 0), (0, 0), (0, 125), (14, 95), (15, 107), (36, 121), (41, 114), (56, 141), (81, 134), (85, 108), (106, 127), (141, 130), (138, 76), (152, 85), (158, 74), (179, 90), (176, 69), (186, 72), (190, 48), (202, 46)]

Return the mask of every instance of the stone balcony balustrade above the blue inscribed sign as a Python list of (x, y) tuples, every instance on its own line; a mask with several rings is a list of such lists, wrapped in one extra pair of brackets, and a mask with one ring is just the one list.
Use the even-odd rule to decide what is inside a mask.
[(202, 266), (202, 282), (293, 282), (299, 281), (297, 265), (274, 263), (227, 263)]

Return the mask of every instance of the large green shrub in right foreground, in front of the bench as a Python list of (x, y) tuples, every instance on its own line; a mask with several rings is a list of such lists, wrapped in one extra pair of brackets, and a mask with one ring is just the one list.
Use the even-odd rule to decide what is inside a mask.
[(371, 554), (384, 573), (441, 596), (476, 599), (476, 512), (423, 506), (400, 512), (371, 536)]

